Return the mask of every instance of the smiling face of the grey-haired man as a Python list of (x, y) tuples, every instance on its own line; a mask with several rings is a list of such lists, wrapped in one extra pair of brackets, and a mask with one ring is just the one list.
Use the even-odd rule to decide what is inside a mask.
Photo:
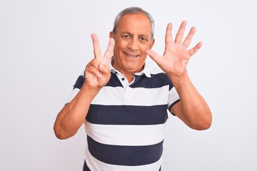
[(121, 17), (115, 40), (113, 66), (124, 75), (133, 75), (143, 69), (148, 49), (151, 49), (151, 23), (144, 14), (126, 14)]

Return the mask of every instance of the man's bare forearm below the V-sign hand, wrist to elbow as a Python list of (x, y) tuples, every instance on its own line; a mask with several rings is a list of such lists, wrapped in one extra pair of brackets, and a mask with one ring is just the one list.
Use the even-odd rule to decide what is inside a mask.
[(54, 133), (57, 138), (66, 139), (76, 134), (84, 123), (91, 101), (97, 93), (98, 91), (87, 90), (82, 86), (74, 99), (62, 108), (54, 123)]

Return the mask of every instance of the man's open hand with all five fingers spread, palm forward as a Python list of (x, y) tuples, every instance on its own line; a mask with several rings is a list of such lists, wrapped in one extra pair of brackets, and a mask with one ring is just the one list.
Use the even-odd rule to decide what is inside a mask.
[(185, 40), (183, 40), (183, 34), (186, 28), (186, 21), (181, 23), (180, 28), (178, 29), (178, 33), (176, 34), (175, 41), (173, 42), (172, 38), (172, 24), (168, 24), (166, 28), (166, 36), (165, 36), (165, 50), (163, 56), (158, 56), (154, 51), (148, 50), (148, 56), (150, 56), (153, 61), (155, 61), (158, 66), (166, 72), (166, 74), (171, 74), (171, 76), (179, 76), (186, 71), (186, 66), (188, 64), (189, 59), (193, 56), (199, 48), (201, 48), (202, 43), (199, 42), (193, 48), (188, 50), (188, 46), (191, 43), (193, 38), (193, 34), (196, 32), (196, 28), (192, 27), (186, 36)]

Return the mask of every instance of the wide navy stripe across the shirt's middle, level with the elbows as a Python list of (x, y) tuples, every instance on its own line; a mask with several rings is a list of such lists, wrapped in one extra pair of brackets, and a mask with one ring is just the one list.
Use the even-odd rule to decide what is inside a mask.
[(86, 120), (104, 125), (156, 125), (166, 123), (167, 105), (90, 105)]

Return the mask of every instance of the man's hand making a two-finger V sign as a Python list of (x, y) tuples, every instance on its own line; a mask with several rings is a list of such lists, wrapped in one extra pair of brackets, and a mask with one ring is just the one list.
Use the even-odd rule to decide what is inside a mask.
[(95, 90), (105, 86), (111, 78), (109, 61), (114, 53), (114, 38), (110, 38), (109, 46), (104, 56), (101, 56), (99, 39), (96, 34), (92, 34), (91, 38), (94, 46), (94, 59), (86, 66), (84, 86)]

